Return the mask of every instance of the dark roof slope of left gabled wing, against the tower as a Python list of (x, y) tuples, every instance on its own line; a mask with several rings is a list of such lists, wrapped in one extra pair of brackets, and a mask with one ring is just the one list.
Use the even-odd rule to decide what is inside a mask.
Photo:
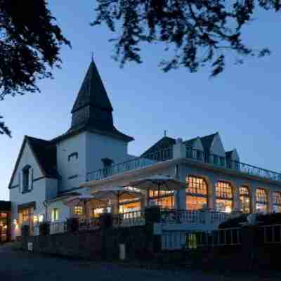
[(37, 158), (44, 176), (57, 178), (57, 148), (51, 141), (45, 141), (40, 138), (27, 136), (27, 140), (32, 147), (35, 157)]

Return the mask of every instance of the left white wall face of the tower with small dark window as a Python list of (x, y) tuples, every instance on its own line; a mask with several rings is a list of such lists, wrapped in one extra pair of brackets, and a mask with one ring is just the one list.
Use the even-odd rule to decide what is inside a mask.
[[(78, 152), (78, 159), (68, 156)], [(59, 191), (77, 188), (86, 181), (86, 132), (67, 138), (57, 144), (58, 173), (62, 176)], [(75, 178), (70, 178), (76, 176)]]

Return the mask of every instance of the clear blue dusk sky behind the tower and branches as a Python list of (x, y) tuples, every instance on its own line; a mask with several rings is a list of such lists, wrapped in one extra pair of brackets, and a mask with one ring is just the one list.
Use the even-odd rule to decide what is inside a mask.
[(261, 13), (244, 34), (255, 48), (270, 47), (272, 55), (228, 65), (220, 77), (209, 79), (208, 69), (196, 74), (185, 69), (162, 72), (157, 66), (165, 55), (161, 46), (145, 46), (142, 65), (120, 69), (111, 58), (112, 34), (89, 25), (95, 5), (92, 0), (49, 1), (72, 49), (63, 48), (63, 67), (53, 72), (55, 79), (40, 81), (41, 93), (7, 97), (0, 103), (13, 132), (12, 139), (0, 136), (0, 200), (8, 200), (8, 181), (23, 137), (51, 139), (69, 128), (70, 110), (92, 51), (115, 109), (115, 125), (136, 140), (129, 145), (131, 154), (139, 155), (164, 130), (183, 139), (219, 131), (225, 148), (237, 148), (242, 162), (281, 171), (281, 41), (275, 13)]

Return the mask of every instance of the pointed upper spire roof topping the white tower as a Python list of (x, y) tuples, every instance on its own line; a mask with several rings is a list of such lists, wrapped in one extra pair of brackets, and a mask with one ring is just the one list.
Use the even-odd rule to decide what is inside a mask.
[(71, 113), (86, 105), (103, 108), (112, 111), (112, 105), (103, 86), (96, 64), (91, 61), (84, 81), (79, 90), (77, 99), (72, 107)]

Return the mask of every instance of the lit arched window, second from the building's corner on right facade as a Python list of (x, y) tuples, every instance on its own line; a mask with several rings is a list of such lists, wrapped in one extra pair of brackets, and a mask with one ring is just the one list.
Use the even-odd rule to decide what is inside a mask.
[(233, 188), (226, 181), (216, 183), (216, 211), (230, 213), (233, 210)]

